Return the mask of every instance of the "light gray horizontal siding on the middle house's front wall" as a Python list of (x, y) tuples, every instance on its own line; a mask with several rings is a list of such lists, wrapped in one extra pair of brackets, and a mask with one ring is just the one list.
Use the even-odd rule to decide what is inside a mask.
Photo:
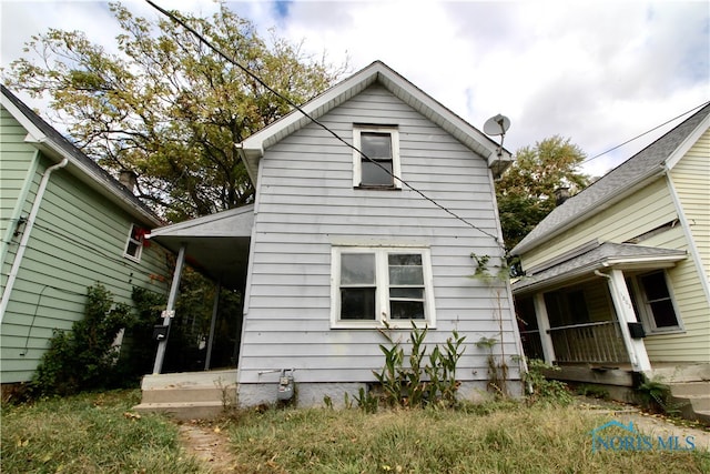
[[(403, 179), (485, 232), (498, 233), (486, 161), (384, 88), (368, 88), (321, 121), (348, 143), (354, 123), (397, 125)], [(487, 353), (475, 342), (481, 336), (499, 339), (498, 307), (504, 349), (509, 355), (517, 353), (508, 293), (504, 283), (490, 288), (467, 275), (474, 271), (471, 252), (500, 255), (500, 249), (490, 236), (406, 186), (353, 189), (352, 173), (352, 149), (314, 124), (266, 150), (258, 177), (240, 382), (273, 382), (273, 375), (260, 372), (281, 369), (296, 369), (301, 382), (374, 381), (372, 371), (384, 361), (378, 347), (384, 337), (374, 329), (331, 329), (331, 250), (344, 241), (429, 248), (436, 329), (427, 342), (443, 343), (458, 330), (467, 337), (462, 380), (486, 380)], [(395, 333), (404, 340), (408, 331)]]

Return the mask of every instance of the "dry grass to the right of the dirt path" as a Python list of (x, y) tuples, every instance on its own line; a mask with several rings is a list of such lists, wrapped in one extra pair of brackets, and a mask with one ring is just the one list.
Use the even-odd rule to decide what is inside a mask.
[(710, 472), (707, 452), (592, 453), (610, 418), (578, 409), (485, 412), (267, 411), (229, 430), (248, 473)]

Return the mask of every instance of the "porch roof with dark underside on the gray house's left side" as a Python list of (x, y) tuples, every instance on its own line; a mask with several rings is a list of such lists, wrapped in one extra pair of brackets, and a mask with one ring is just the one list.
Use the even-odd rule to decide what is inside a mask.
[(186, 262), (223, 286), (241, 289), (246, 279), (254, 205), (153, 229), (148, 239), (174, 253), (185, 245)]

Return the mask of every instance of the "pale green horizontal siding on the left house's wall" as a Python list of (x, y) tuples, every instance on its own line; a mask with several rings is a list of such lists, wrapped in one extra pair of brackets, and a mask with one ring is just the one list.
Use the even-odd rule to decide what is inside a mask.
[[(24, 137), (21, 128), (14, 129), (16, 135)], [(12, 147), (17, 153), (8, 154), (6, 143), (9, 141), (3, 137), (3, 205), (6, 199), (12, 196), (6, 194), (4, 167), (18, 162), (11, 157), (32, 157), (34, 152), (29, 143), (16, 143)], [(23, 203), (26, 215), (36, 199), (42, 174), (52, 164), (53, 161), (41, 157), (32, 178), (33, 185)], [(16, 200), (18, 195), (14, 193)], [(129, 304), (132, 303), (133, 286), (166, 292), (164, 281), (169, 275), (161, 248), (153, 244), (143, 249), (140, 262), (123, 256), (131, 223), (150, 226), (109, 203), (72, 175), (69, 168), (51, 174), (2, 321), (2, 383), (31, 379), (52, 331), (69, 330), (74, 321), (83, 317), (88, 286), (101, 283), (114, 294), (116, 302)], [(20, 238), (9, 242), (2, 265), (3, 286)]]

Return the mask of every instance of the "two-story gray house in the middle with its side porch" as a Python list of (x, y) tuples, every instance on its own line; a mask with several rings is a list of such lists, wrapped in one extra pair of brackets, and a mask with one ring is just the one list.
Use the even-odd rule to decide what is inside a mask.
[[(429, 350), (455, 330), (466, 336), (462, 396), (486, 392), (481, 337), (498, 341), (493, 352), (509, 357), (519, 394), (509, 284), (470, 278), (471, 253), (504, 254), (494, 178), (509, 153), (382, 62), (303, 110), (344, 141), (294, 111), (237, 145), (256, 188), (252, 206), (151, 233), (217, 280), (240, 281), (230, 269), (245, 275), (237, 371), (211, 377), (237, 382), (248, 405), (274, 402), (281, 371), (294, 370), (300, 404), (342, 403), (384, 366), (386, 324), (406, 342), (416, 323), (429, 327)], [(145, 377), (144, 406), (178, 380)]]

